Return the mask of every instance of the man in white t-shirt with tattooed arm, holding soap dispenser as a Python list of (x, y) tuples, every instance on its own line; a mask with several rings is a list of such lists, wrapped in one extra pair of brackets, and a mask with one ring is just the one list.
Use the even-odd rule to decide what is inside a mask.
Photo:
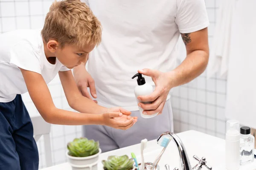
[[(171, 102), (167, 97), (170, 89), (198, 77), (208, 63), (209, 20), (204, 0), (86, 0), (86, 3), (102, 23), (102, 42), (90, 53), (88, 72), (84, 65), (74, 69), (77, 85), (84, 96), (92, 99), (91, 94), (102, 106), (120, 106), (132, 111), (131, 116), (138, 116), (138, 122), (125, 131), (84, 126), (84, 135), (99, 140), (106, 152), (173, 131)], [(187, 56), (175, 68), (180, 34)], [(136, 102), (137, 82), (131, 77), (138, 70), (145, 75), (146, 82), (156, 85), (151, 95), (139, 96), (152, 104)], [(159, 112), (159, 115), (141, 118), (138, 107), (145, 114)]]

